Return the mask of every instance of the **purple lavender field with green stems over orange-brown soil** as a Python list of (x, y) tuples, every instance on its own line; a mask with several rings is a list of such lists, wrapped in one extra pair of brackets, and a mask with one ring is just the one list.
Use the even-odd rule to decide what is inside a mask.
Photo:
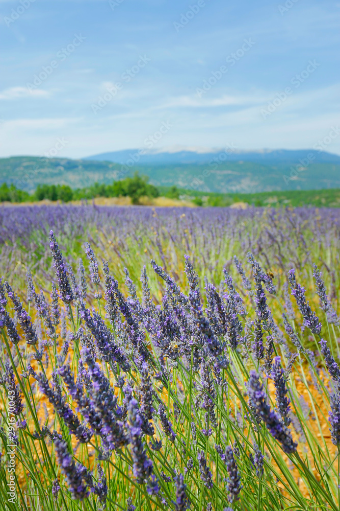
[(338, 510), (339, 210), (0, 217), (1, 510)]

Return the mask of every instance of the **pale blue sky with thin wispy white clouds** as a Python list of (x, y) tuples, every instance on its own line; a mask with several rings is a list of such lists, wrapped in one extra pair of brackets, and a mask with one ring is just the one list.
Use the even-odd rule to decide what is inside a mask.
[(0, 0), (0, 157), (340, 154), (339, 28), (329, 0)]

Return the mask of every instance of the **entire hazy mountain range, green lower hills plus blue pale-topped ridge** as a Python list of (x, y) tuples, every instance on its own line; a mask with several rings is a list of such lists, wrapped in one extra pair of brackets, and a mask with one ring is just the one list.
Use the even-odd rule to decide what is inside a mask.
[(38, 184), (86, 188), (134, 172), (156, 186), (215, 193), (253, 193), (340, 188), (340, 156), (317, 150), (138, 149), (83, 159), (15, 156), (0, 159), (0, 183), (33, 192)]

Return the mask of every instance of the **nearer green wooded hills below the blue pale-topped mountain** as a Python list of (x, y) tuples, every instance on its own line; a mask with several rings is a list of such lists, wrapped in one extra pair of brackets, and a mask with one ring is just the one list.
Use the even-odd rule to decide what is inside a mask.
[[(121, 160), (95, 161), (91, 159), (72, 160), (68, 158), (40, 158), (16, 156), (0, 159), (0, 183), (13, 183), (17, 188), (33, 192), (37, 184), (68, 184), (71, 188), (85, 188), (94, 182), (111, 183), (138, 171), (149, 176), (156, 186), (176, 185), (179, 188), (216, 193), (255, 193), (285, 190), (320, 190), (340, 188), (340, 157), (317, 152), (312, 163), (303, 161), (312, 151), (282, 151), (281, 161), (248, 161), (245, 153), (242, 160), (212, 161), (192, 164), (144, 164), (127, 168)], [(281, 151), (275, 157), (279, 158)], [(291, 161), (283, 161), (284, 158)], [(213, 153), (218, 158), (219, 153)], [(248, 154), (248, 153), (247, 153)], [(256, 153), (259, 154), (259, 153)], [(300, 158), (301, 156), (301, 158)], [(258, 156), (260, 157), (260, 156)], [(274, 158), (274, 155), (271, 156)], [(327, 161), (327, 158), (329, 161)]]

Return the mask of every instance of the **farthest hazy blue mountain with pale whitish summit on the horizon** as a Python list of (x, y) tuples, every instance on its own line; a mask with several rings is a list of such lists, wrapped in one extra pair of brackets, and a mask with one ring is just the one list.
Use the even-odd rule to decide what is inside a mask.
[[(137, 165), (204, 165), (216, 158), (219, 161), (251, 161), (264, 165), (277, 164), (296, 164), (300, 159), (307, 155), (312, 155), (314, 163), (333, 163), (340, 165), (340, 156), (327, 153), (325, 151), (316, 151), (314, 149), (287, 150), (264, 149), (262, 151), (234, 151), (216, 149), (210, 152), (200, 151), (147, 151), (140, 154), (138, 149), (125, 149), (124, 151), (114, 151), (110, 153), (95, 154), (88, 156), (86, 160), (96, 161), (114, 161), (122, 165), (130, 159), (137, 162)], [(222, 159), (223, 158), (223, 159)]]

